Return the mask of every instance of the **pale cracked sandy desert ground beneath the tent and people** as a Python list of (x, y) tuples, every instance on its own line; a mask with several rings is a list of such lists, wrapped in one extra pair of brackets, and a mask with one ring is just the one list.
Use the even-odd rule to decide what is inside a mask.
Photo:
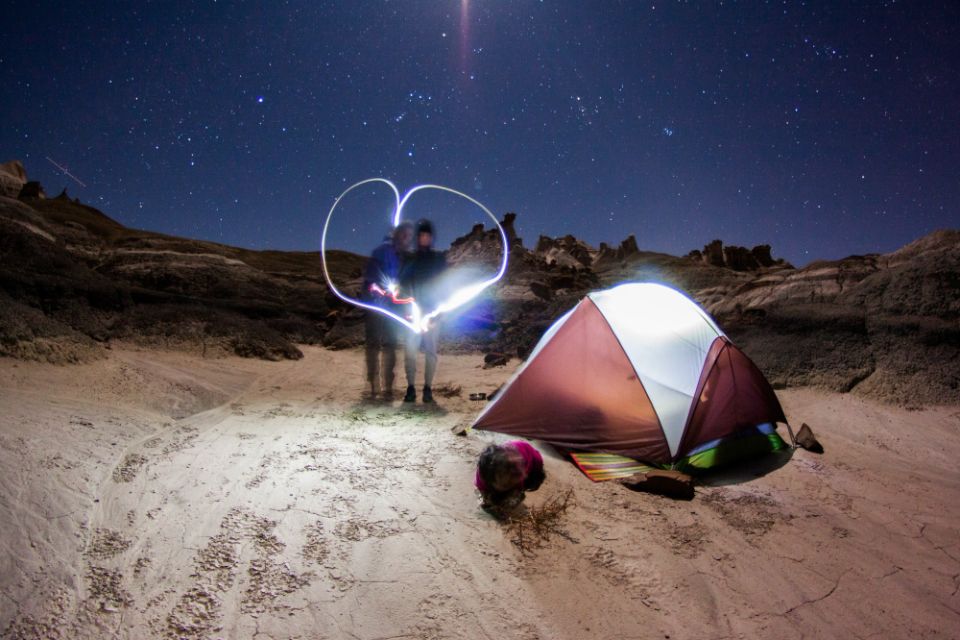
[[(594, 484), (541, 446), (524, 555), (451, 427), (513, 366), (441, 360), (434, 411), (360, 401), (357, 352), (114, 349), (0, 361), (4, 638), (957, 638), (960, 408), (781, 392), (798, 451), (692, 502)], [(399, 373), (399, 372), (398, 372)]]

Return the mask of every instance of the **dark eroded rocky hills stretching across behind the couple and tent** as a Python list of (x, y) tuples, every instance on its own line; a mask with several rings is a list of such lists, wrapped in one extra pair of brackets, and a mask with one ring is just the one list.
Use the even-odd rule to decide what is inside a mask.
[[(711, 243), (675, 257), (642, 251), (632, 237), (596, 249), (541, 237), (531, 250), (514, 219), (504, 220), (506, 277), (448, 318), (446, 349), (524, 357), (589, 291), (654, 281), (688, 292), (777, 386), (960, 402), (960, 231), (795, 269), (767, 246), (743, 249), (752, 262), (742, 248)], [(502, 245), (499, 231), (477, 226), (448, 260), (489, 271)], [(356, 290), (364, 258), (328, 257), (336, 282)], [(296, 358), (297, 343), (351, 347), (362, 337), (362, 313), (331, 295), (315, 252), (127, 229), (66, 196), (0, 196), (0, 355), (70, 362), (123, 339)]]

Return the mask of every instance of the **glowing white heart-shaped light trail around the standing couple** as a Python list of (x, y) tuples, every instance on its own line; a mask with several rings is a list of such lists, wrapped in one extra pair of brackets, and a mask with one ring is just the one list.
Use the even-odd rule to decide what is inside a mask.
[[(396, 294), (397, 294), (396, 283), (384, 282), (382, 283), (382, 286), (378, 286), (377, 288), (380, 290), (381, 295), (387, 295), (397, 303), (410, 305), (411, 307), (410, 319), (399, 316), (393, 313), (392, 311), (390, 311), (389, 309), (384, 309), (382, 307), (378, 307), (373, 304), (367, 304), (366, 302), (357, 300), (356, 298), (348, 296), (347, 294), (340, 291), (340, 289), (337, 288), (337, 285), (333, 283), (333, 279), (330, 277), (330, 270), (327, 267), (327, 231), (330, 228), (330, 220), (333, 219), (333, 213), (334, 211), (336, 211), (337, 205), (340, 204), (340, 201), (343, 200), (344, 196), (346, 196), (348, 193), (350, 193), (357, 187), (361, 187), (365, 184), (370, 184), (374, 182), (382, 182), (383, 184), (390, 187), (391, 191), (393, 191), (393, 195), (397, 203), (397, 207), (396, 209), (394, 209), (394, 213), (393, 213), (394, 227), (400, 224), (400, 219), (403, 214), (403, 208), (406, 206), (407, 202), (409, 202), (410, 196), (417, 193), (418, 191), (424, 191), (427, 189), (436, 189), (438, 191), (446, 191), (448, 193), (452, 193), (454, 195), (460, 196), (461, 198), (465, 198), (466, 200), (480, 207), (484, 213), (490, 216), (490, 219), (493, 220), (493, 224), (497, 225), (497, 229), (500, 231), (500, 237), (503, 240), (503, 259), (500, 261), (500, 269), (491, 278), (459, 287), (456, 291), (454, 291), (453, 295), (451, 295), (449, 298), (444, 300), (443, 303), (441, 303), (436, 309), (433, 309), (428, 313), (424, 313), (424, 310), (420, 308), (416, 300), (414, 300), (413, 298), (398, 299), (396, 297)], [(461, 191), (457, 191), (456, 189), (451, 189), (450, 187), (444, 187), (438, 184), (418, 185), (416, 187), (413, 187), (409, 191), (407, 191), (405, 194), (403, 194), (403, 197), (401, 198), (400, 191), (397, 189), (396, 185), (394, 185), (389, 180), (385, 180), (384, 178), (368, 178), (366, 180), (361, 180), (360, 182), (357, 182), (356, 184), (353, 184), (347, 187), (343, 191), (343, 193), (341, 193), (337, 197), (337, 199), (334, 200), (333, 206), (330, 207), (330, 212), (327, 213), (327, 220), (323, 225), (323, 236), (320, 239), (320, 257), (323, 260), (323, 275), (327, 279), (327, 285), (330, 287), (330, 290), (333, 291), (333, 293), (344, 302), (349, 302), (350, 304), (356, 305), (358, 307), (362, 307), (363, 309), (374, 311), (376, 313), (382, 313), (385, 316), (393, 318), (394, 320), (396, 320), (403, 326), (407, 327), (414, 333), (423, 333), (424, 331), (427, 331), (430, 328), (430, 322), (434, 318), (439, 316), (441, 313), (448, 313), (458, 307), (462, 307), (463, 305), (467, 304), (468, 302), (476, 298), (484, 289), (486, 289), (490, 285), (500, 280), (500, 278), (503, 277), (503, 274), (507, 272), (507, 257), (509, 253), (510, 253), (510, 243), (507, 240), (506, 232), (503, 230), (503, 227), (500, 226), (500, 222), (497, 220), (497, 217), (493, 215), (490, 209), (487, 209), (481, 202), (474, 200), (473, 198), (471, 198), (470, 196), (468, 196), (467, 194)]]

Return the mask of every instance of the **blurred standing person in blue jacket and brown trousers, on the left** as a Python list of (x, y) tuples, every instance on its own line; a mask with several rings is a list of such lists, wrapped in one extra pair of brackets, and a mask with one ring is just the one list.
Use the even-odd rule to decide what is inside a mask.
[[(405, 313), (403, 307), (396, 304), (391, 287), (394, 287), (395, 292), (403, 256), (409, 250), (412, 240), (413, 225), (403, 222), (373, 250), (363, 275), (361, 298), (365, 302), (399, 316)], [(393, 400), (393, 379), (401, 326), (389, 316), (367, 310), (364, 328), (370, 397), (375, 400), (382, 390), (384, 400)]]

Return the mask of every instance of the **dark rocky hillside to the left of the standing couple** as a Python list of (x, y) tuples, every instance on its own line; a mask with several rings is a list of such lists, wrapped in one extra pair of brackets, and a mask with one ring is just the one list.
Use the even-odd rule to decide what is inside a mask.
[[(349, 279), (362, 259), (337, 265)], [(0, 355), (72, 362), (124, 339), (297, 358), (295, 343), (322, 341), (338, 308), (317, 253), (127, 229), (63, 196), (0, 197)]]

